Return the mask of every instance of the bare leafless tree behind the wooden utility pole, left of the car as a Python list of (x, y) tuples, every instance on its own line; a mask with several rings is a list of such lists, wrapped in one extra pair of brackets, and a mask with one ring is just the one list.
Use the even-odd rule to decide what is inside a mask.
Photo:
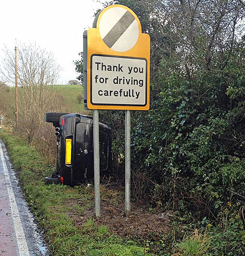
[[(4, 50), (1, 71), (6, 80), (15, 82), (14, 50)], [(62, 98), (53, 90), (52, 85), (61, 70), (53, 53), (40, 48), (37, 44), (17, 43), (19, 93), (19, 123), (16, 131), (32, 143), (45, 124), (45, 112), (59, 111)], [(6, 95), (5, 95), (6, 96)]]

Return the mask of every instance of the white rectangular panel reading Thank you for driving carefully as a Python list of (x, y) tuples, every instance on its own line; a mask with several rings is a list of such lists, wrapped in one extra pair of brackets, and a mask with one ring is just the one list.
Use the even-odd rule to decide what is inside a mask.
[(94, 105), (145, 106), (147, 60), (93, 54), (91, 103)]

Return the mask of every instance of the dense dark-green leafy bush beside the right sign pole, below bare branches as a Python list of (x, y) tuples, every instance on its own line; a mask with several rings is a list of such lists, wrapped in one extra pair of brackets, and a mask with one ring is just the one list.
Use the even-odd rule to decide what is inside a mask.
[[(237, 88), (245, 84), (245, 63), (236, 60), (222, 70), (197, 73), (191, 81), (181, 73), (164, 73), (162, 62), (158, 100), (150, 111), (132, 113), (135, 198), (201, 219), (216, 219), (227, 203), (243, 206), (245, 90)], [(102, 116), (115, 130), (114, 163), (123, 174), (123, 113)]]

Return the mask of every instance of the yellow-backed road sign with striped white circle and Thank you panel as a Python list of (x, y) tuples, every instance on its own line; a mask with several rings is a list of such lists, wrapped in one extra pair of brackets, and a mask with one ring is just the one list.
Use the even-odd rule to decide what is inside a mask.
[(89, 109), (149, 109), (150, 38), (132, 10), (102, 10), (87, 31), (86, 50)]

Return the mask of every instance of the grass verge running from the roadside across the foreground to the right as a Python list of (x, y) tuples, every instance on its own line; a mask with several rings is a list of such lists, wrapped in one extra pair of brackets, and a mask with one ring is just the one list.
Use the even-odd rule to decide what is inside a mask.
[[(94, 201), (93, 187), (81, 185), (70, 188), (61, 185), (45, 185), (43, 178), (54, 167), (30, 147), (24, 138), (0, 130), (0, 139), (5, 142), (14, 169), (17, 171), (27, 201), (39, 225), (45, 231), (50, 253), (54, 256), (242, 256), (244, 255), (245, 232), (240, 215), (233, 214), (226, 226), (220, 222), (202, 223), (178, 221), (175, 227), (176, 240), (166, 234), (162, 239), (146, 240), (140, 247), (129, 237), (121, 239), (108, 227), (87, 219), (76, 225), (77, 217), (91, 208)], [(106, 194), (107, 193), (107, 194)], [(108, 197), (108, 189), (101, 189), (101, 198)], [(110, 195), (111, 196), (111, 195)], [(114, 197), (115, 203), (117, 197)], [(72, 213), (72, 214), (71, 214)], [(178, 217), (178, 216), (177, 216)], [(184, 224), (186, 222), (186, 224)], [(190, 223), (190, 224), (187, 224)], [(184, 225), (184, 226), (183, 226)], [(182, 232), (189, 227), (201, 226), (201, 231)], [(203, 233), (202, 230), (205, 229)], [(140, 241), (139, 239), (136, 241)], [(142, 241), (141, 241), (142, 242)], [(150, 249), (149, 249), (150, 248)], [(154, 250), (152, 250), (154, 248)], [(151, 252), (149, 252), (151, 251)], [(152, 251), (155, 251), (152, 253)]]

